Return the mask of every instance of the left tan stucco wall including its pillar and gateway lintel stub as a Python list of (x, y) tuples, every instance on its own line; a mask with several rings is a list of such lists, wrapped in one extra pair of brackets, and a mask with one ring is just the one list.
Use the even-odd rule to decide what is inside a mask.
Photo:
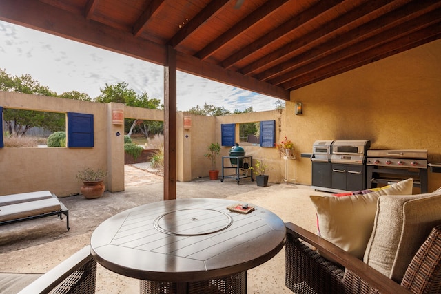
[(163, 120), (163, 112), (159, 110), (12, 92), (0, 92), (0, 105), (5, 108), (94, 115), (93, 148), (0, 149), (0, 195), (38, 190), (50, 190), (59, 197), (80, 193), (81, 182), (75, 176), (85, 167), (107, 170), (106, 189), (123, 191), (124, 128), (123, 125), (112, 123), (112, 110), (124, 109), (127, 118)]

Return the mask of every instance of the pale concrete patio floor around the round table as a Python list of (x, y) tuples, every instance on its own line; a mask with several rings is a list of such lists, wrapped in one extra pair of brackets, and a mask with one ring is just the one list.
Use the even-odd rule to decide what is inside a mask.
[[(61, 198), (69, 209), (70, 231), (65, 220), (41, 218), (0, 227), (0, 271), (45, 273), (89, 244), (90, 235), (104, 220), (141, 204), (163, 200), (163, 178), (143, 169), (125, 165), (125, 191), (105, 192), (99, 199), (81, 195)], [(316, 231), (315, 211), (309, 195), (328, 195), (309, 186), (270, 184), (257, 187), (249, 178), (178, 182), (178, 198), (226, 198), (265, 207), (285, 222), (295, 222)], [(248, 271), (248, 293), (291, 293), (285, 288), (285, 252)], [(98, 267), (97, 293), (139, 293), (139, 281)]]

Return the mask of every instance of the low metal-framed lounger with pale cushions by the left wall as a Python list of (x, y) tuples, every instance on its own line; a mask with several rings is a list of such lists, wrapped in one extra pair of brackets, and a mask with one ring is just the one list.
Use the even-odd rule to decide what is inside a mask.
[(69, 230), (69, 210), (50, 191), (35, 191), (0, 196), (0, 225), (34, 220), (46, 216), (66, 217)]

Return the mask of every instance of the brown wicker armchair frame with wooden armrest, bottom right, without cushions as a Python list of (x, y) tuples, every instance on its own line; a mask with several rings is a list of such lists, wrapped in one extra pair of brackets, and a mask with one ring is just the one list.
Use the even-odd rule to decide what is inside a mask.
[(441, 293), (441, 225), (420, 246), (401, 284), (318, 235), (285, 225), (285, 285), (294, 293)]

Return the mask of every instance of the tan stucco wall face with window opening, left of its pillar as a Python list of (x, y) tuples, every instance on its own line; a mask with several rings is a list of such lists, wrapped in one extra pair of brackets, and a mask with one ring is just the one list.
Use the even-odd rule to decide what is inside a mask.
[[(107, 105), (70, 99), (0, 92), (5, 108), (44, 112), (94, 114), (93, 148), (3, 148), (0, 149), (0, 195), (50, 190), (58, 196), (79, 193), (75, 176), (85, 167), (107, 170)], [(66, 119), (67, 121), (67, 119)], [(115, 132), (122, 132), (121, 126)], [(123, 140), (123, 139), (122, 139)], [(123, 141), (122, 141), (123, 142)], [(112, 178), (110, 174), (108, 178)], [(106, 187), (107, 179), (105, 180)]]

